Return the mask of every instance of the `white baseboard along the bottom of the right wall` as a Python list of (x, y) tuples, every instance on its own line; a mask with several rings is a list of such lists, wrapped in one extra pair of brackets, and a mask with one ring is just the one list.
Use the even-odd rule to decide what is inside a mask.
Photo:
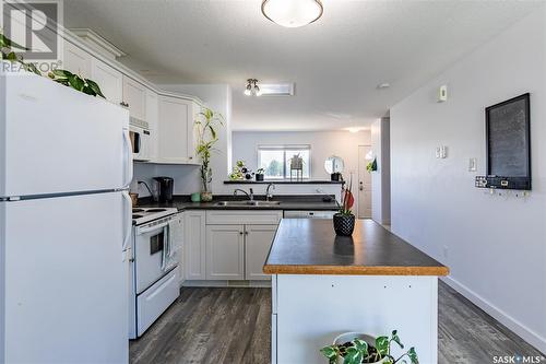
[(461, 293), (463, 296), (468, 298), (473, 304), (485, 310), (496, 320), (508, 327), (510, 330), (512, 330), (515, 334), (525, 340), (527, 343), (535, 347), (543, 354), (546, 353), (545, 338), (541, 337), (538, 333), (529, 329), (526, 326), (524, 326), (523, 324), (521, 324), (520, 321), (518, 321), (517, 319), (514, 319), (500, 308), (496, 307), (495, 305), (483, 298), (480, 295), (478, 295), (471, 289), (466, 287), (464, 284), (452, 279), (451, 277), (443, 277), (441, 278), (441, 280), (449, 286), (451, 286), (453, 290), (455, 290), (456, 292)]

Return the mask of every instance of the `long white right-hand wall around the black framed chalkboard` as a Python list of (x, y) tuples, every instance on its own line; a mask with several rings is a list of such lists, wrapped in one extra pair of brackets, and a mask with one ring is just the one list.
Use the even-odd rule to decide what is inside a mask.
[[(391, 108), (393, 232), (451, 269), (448, 282), (546, 352), (544, 5)], [(449, 86), (449, 101), (436, 91)], [(490, 196), (486, 106), (531, 93), (533, 191)], [(448, 145), (448, 158), (435, 148)], [(471, 173), (468, 158), (477, 157)]]

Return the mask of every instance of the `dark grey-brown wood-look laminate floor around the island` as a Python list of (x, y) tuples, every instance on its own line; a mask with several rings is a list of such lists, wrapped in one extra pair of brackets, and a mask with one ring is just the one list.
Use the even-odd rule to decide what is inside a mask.
[[(131, 363), (269, 363), (270, 300), (269, 289), (183, 289), (131, 343)], [(542, 356), (441, 282), (438, 333), (440, 364), (492, 363), (492, 355), (514, 353)]]

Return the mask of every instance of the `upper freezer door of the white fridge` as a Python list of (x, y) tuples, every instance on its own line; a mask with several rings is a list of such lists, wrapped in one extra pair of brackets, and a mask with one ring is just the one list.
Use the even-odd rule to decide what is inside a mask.
[(100, 97), (29, 73), (0, 75), (0, 197), (128, 186), (128, 110)]

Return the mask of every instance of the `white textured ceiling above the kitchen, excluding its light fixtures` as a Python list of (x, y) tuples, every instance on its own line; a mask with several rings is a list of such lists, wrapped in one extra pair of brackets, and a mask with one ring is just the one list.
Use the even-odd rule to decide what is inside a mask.
[[(283, 28), (260, 0), (64, 0), (67, 27), (90, 27), (157, 83), (228, 83), (233, 126), (332, 130), (389, 107), (538, 2), (324, 0), (324, 15)], [(296, 83), (293, 97), (242, 96), (245, 81)], [(388, 82), (390, 89), (377, 90)]]

